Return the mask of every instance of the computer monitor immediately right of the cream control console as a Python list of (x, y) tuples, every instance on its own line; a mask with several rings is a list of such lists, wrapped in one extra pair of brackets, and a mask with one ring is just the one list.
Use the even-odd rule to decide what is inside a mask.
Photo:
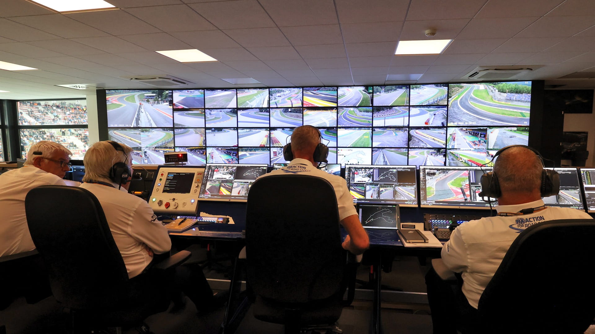
[(207, 163), (202, 179), (201, 201), (246, 201), (252, 183), (267, 173), (268, 165)]

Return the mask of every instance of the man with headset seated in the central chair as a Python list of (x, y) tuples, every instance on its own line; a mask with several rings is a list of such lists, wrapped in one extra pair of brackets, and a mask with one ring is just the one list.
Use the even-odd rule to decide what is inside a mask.
[(262, 175), (313, 175), (324, 178), (333, 185), (339, 206), (339, 220), (347, 230), (343, 248), (353, 254), (361, 254), (369, 246), (368, 234), (359, 222), (358, 213), (353, 206), (353, 197), (347, 189), (347, 182), (342, 177), (331, 175), (317, 169), (319, 162), (326, 162), (328, 147), (321, 143), (320, 131), (311, 125), (303, 125), (293, 130), (291, 143), (283, 147), (283, 156), (290, 160), (289, 165)]

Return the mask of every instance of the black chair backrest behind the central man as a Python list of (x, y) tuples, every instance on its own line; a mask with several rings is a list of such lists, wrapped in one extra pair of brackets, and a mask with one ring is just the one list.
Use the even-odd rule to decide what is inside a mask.
[(284, 303), (345, 291), (333, 186), (309, 175), (257, 179), (248, 193), (246, 261), (255, 293)]

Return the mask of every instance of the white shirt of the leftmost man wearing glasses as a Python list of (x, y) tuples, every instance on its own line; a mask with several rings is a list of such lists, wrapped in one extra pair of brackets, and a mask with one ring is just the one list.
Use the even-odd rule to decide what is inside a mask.
[(35, 166), (11, 169), (0, 175), (0, 256), (35, 249), (27, 225), (25, 196), (40, 185), (64, 185), (64, 181)]

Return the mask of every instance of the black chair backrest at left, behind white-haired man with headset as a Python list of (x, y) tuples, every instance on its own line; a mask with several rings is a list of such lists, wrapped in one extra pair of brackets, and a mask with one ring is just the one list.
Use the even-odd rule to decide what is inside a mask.
[(74, 309), (101, 308), (126, 295), (126, 266), (92, 193), (42, 185), (27, 193), (25, 210), (56, 300)]

